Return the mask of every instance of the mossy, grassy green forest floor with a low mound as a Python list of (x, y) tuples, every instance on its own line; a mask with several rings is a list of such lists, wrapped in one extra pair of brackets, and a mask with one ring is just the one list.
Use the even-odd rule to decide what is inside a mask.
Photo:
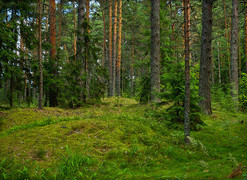
[(78, 109), (0, 109), (0, 179), (247, 179), (247, 114), (217, 111), (184, 145), (166, 107), (106, 98)]

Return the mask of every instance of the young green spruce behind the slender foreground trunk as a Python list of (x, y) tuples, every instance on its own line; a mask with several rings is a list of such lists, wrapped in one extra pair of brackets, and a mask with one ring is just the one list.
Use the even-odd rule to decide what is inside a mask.
[[(176, 123), (184, 121), (184, 71), (183, 63), (177, 62), (171, 66), (170, 72), (162, 75), (162, 81), (166, 83), (162, 96), (165, 100), (171, 102), (171, 106), (164, 114), (165, 118), (170, 121), (170, 126), (176, 127)], [(196, 69), (191, 71), (191, 95), (190, 95), (190, 126), (192, 130), (199, 130), (205, 123), (201, 120), (200, 107), (198, 106), (199, 97), (198, 80), (196, 79)], [(175, 125), (175, 126), (174, 126)]]

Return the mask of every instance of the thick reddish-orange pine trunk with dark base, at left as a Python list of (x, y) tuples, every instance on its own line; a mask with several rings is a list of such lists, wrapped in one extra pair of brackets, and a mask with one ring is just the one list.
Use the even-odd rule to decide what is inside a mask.
[[(56, 2), (55, 0), (50, 0), (50, 57), (52, 66), (52, 75), (56, 77)], [(50, 107), (55, 107), (58, 105), (57, 102), (57, 88), (56, 83), (52, 83), (49, 88), (49, 104)]]

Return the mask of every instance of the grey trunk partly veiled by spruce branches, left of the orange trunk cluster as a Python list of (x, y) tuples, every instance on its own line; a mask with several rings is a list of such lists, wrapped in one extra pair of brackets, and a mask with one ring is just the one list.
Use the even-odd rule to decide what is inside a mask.
[(79, 68), (79, 75), (76, 77), (78, 80), (79, 86), (81, 88), (80, 100), (86, 102), (86, 80), (82, 82), (82, 75), (85, 74), (85, 57), (83, 55), (83, 44), (85, 42), (84, 37), (84, 29), (83, 29), (83, 21), (85, 18), (85, 0), (78, 1), (78, 22), (77, 22), (77, 42), (76, 42), (76, 64), (77, 68)]

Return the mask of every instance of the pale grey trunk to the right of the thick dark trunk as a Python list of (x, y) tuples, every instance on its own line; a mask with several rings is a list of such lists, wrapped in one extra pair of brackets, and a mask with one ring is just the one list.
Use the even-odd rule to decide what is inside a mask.
[(238, 4), (238, 0), (232, 0), (231, 95), (234, 101), (238, 97)]

